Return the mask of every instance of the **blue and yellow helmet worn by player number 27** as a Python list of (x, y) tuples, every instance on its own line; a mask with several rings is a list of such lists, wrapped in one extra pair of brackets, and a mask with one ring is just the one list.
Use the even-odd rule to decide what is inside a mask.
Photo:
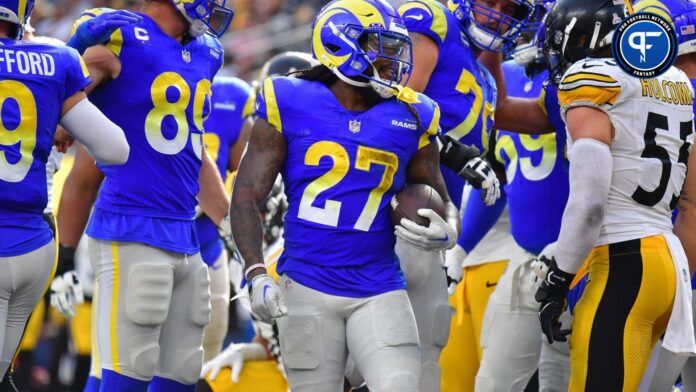
[[(385, 0), (334, 0), (324, 6), (312, 25), (312, 54), (339, 79), (371, 86), (383, 98), (406, 84), (413, 65), (408, 31)], [(391, 70), (385, 72), (386, 65)]]

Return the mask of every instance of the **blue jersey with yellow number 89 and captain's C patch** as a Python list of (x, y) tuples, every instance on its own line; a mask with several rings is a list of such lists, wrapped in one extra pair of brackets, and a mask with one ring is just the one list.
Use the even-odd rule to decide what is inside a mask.
[[(108, 11), (85, 14), (98, 12)], [(131, 150), (126, 164), (100, 166), (106, 178), (87, 234), (193, 254), (203, 124), (223, 51), (208, 35), (181, 44), (140, 16), (106, 43), (121, 71), (90, 95), (123, 129)]]

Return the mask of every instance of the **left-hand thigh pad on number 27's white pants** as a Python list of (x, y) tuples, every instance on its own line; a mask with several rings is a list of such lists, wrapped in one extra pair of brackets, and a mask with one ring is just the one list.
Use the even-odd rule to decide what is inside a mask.
[(319, 320), (314, 316), (288, 315), (278, 321), (283, 364), (296, 370), (319, 367), (322, 350)]

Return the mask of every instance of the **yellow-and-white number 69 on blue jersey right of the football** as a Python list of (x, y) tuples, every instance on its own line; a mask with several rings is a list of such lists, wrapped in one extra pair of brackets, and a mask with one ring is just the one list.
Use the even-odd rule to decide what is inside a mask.
[(507, 159), (510, 161), (505, 170), (507, 182), (511, 183), (513, 181), (515, 175), (517, 175), (518, 166), (524, 178), (529, 181), (541, 181), (548, 177), (553, 171), (553, 167), (556, 165), (556, 157), (558, 156), (556, 134), (548, 133), (536, 137), (518, 135), (518, 137), (525, 151), (531, 153), (541, 150), (541, 161), (539, 164), (535, 165), (529, 157), (519, 158), (517, 147), (512, 137), (509, 135), (499, 137), (495, 144), (495, 157), (499, 162), (504, 163), (505, 157), (502, 156), (502, 152), (504, 151)]

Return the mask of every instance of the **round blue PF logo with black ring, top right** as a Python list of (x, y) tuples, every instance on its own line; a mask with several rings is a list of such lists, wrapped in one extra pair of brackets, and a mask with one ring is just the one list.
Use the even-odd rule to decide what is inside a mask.
[(678, 50), (677, 34), (670, 21), (653, 13), (630, 15), (614, 31), (614, 59), (627, 74), (637, 78), (654, 78), (666, 72)]

